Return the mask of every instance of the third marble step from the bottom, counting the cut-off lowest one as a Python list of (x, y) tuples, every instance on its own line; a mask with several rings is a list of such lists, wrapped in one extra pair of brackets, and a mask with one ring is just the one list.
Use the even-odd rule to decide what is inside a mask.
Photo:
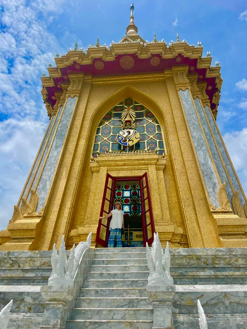
[(151, 308), (152, 304), (147, 297), (77, 297), (77, 308), (102, 307), (109, 308)]

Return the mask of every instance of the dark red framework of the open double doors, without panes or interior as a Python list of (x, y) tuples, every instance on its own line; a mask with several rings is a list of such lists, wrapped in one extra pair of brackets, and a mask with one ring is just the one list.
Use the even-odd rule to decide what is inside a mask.
[[(112, 180), (112, 187), (111, 189), (108, 188), (108, 182), (109, 182), (109, 178)], [(142, 180), (145, 179), (145, 183), (146, 185), (143, 186), (142, 188)], [(148, 244), (150, 245), (153, 242), (153, 233), (154, 233), (154, 221), (153, 221), (153, 214), (152, 214), (152, 205), (151, 205), (151, 196), (150, 196), (150, 190), (149, 190), (149, 183), (148, 183), (148, 174), (147, 172), (145, 172), (142, 176), (138, 176), (138, 177), (113, 177), (110, 174), (107, 173), (106, 175), (106, 180), (105, 180), (105, 187), (104, 187), (104, 192), (103, 192), (103, 200), (102, 200), (102, 204), (101, 204), (101, 209), (100, 209), (100, 216), (103, 216), (103, 213), (107, 214), (104, 211), (104, 200), (106, 199), (106, 192), (107, 189), (111, 190), (111, 197), (110, 200), (106, 199), (107, 201), (109, 201), (109, 210), (108, 213), (112, 210), (113, 208), (113, 203), (114, 203), (114, 198), (115, 198), (115, 190), (116, 190), (116, 182), (119, 181), (138, 181), (139, 182), (139, 186), (140, 186), (140, 197), (141, 197), (141, 210), (142, 210), (142, 229), (143, 229), (143, 244), (144, 247), (146, 246), (146, 242), (148, 242)], [(150, 223), (147, 224), (146, 222), (146, 216), (145, 214), (148, 212), (144, 212), (144, 202), (147, 199), (143, 199), (143, 190), (147, 189), (147, 198), (148, 198), (148, 205), (149, 205), (149, 212), (150, 212)], [(108, 239), (109, 239), (109, 235), (110, 235), (110, 221), (111, 221), (111, 217), (108, 217), (107, 220), (107, 225), (104, 225), (102, 223), (102, 219), (99, 219), (98, 222), (98, 227), (97, 227), (97, 232), (96, 232), (96, 243), (102, 245), (103, 247), (107, 247), (108, 244)], [(152, 230), (152, 237), (148, 239), (148, 234), (147, 234), (147, 226), (151, 225), (151, 230)], [(106, 237), (105, 240), (102, 240), (101, 238), (99, 238), (99, 234), (100, 234), (100, 229), (101, 226), (104, 226), (106, 228)]]

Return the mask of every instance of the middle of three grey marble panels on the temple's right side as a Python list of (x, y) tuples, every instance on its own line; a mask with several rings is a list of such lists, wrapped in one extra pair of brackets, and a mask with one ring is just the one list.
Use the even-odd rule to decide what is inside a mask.
[(214, 164), (216, 165), (218, 174), (220, 176), (220, 180), (221, 180), (222, 183), (226, 182), (226, 193), (227, 193), (228, 199), (230, 200), (230, 203), (231, 203), (231, 206), (232, 206), (233, 191), (231, 189), (231, 186), (230, 186), (230, 183), (229, 183), (227, 174), (225, 172), (225, 169), (223, 167), (223, 164), (221, 162), (221, 159), (220, 159), (219, 153), (217, 151), (215, 142), (213, 140), (211, 131), (210, 131), (209, 127), (208, 127), (207, 120), (206, 120), (204, 111), (202, 109), (202, 105), (201, 105), (200, 99), (198, 97), (195, 99), (195, 105), (196, 105), (197, 113), (198, 113), (198, 115), (200, 117), (200, 120), (201, 120), (203, 129), (204, 129), (204, 133), (206, 135), (206, 139), (207, 139), (207, 142), (208, 142), (210, 151), (212, 153)]

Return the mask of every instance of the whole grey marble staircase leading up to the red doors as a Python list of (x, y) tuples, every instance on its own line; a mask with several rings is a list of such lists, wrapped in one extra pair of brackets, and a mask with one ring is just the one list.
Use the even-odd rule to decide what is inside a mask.
[(97, 248), (67, 322), (77, 328), (152, 328), (146, 248)]

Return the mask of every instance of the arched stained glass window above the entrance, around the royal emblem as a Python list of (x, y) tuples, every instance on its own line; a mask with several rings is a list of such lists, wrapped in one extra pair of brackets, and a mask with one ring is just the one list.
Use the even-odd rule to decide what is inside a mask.
[(155, 115), (150, 109), (136, 100), (126, 98), (111, 108), (100, 120), (96, 130), (93, 157), (97, 156), (97, 152), (104, 153), (107, 150), (109, 152), (127, 151), (116, 140), (117, 134), (122, 130), (121, 115), (127, 107), (130, 107), (135, 112), (135, 129), (140, 135), (140, 139), (134, 145), (134, 149), (146, 150), (149, 147), (151, 151), (157, 149), (159, 155), (165, 152), (160, 124)]

